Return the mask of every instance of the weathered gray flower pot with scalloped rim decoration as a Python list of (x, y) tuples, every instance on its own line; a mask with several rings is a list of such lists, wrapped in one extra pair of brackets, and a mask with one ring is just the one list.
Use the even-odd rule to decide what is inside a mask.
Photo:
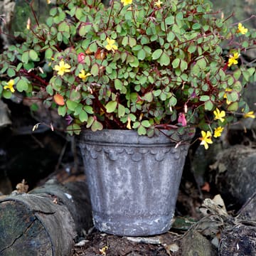
[(132, 130), (82, 132), (95, 228), (128, 236), (168, 231), (188, 146), (175, 148), (164, 134), (149, 138)]

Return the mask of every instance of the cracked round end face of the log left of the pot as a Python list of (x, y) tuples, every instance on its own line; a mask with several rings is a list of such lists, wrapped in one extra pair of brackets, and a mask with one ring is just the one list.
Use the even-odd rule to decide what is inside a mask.
[(53, 255), (50, 236), (25, 204), (2, 202), (0, 220), (0, 255)]

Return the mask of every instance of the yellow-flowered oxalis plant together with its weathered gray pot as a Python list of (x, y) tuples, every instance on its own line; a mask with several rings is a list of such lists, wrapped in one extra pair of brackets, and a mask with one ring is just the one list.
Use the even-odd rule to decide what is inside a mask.
[(255, 46), (255, 31), (229, 26), (229, 17), (212, 6), (207, 0), (58, 1), (46, 23), (35, 16), (16, 33), (22, 43), (0, 56), (2, 97), (41, 99), (68, 120), (68, 133), (82, 130), (102, 231), (169, 230), (194, 129), (208, 149), (225, 126), (255, 117), (242, 100), (255, 80), (255, 61), (242, 57)]

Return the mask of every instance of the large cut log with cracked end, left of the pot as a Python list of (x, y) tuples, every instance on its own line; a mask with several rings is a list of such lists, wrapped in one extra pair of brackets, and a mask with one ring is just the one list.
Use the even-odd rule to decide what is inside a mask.
[(30, 193), (0, 200), (0, 255), (70, 255), (74, 239), (92, 225), (85, 182), (50, 180)]

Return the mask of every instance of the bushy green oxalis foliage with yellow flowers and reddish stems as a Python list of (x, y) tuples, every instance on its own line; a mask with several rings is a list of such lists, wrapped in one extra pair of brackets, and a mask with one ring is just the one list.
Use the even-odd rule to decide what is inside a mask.
[[(48, 1), (50, 4), (50, 1)], [(67, 132), (201, 129), (208, 149), (227, 124), (255, 118), (242, 100), (256, 80), (255, 31), (207, 0), (58, 1), (28, 20), (0, 56), (1, 96), (41, 99)], [(33, 11), (33, 9), (32, 9)], [(54, 127), (54, 124), (51, 124)], [(178, 142), (175, 133), (171, 137)]]

